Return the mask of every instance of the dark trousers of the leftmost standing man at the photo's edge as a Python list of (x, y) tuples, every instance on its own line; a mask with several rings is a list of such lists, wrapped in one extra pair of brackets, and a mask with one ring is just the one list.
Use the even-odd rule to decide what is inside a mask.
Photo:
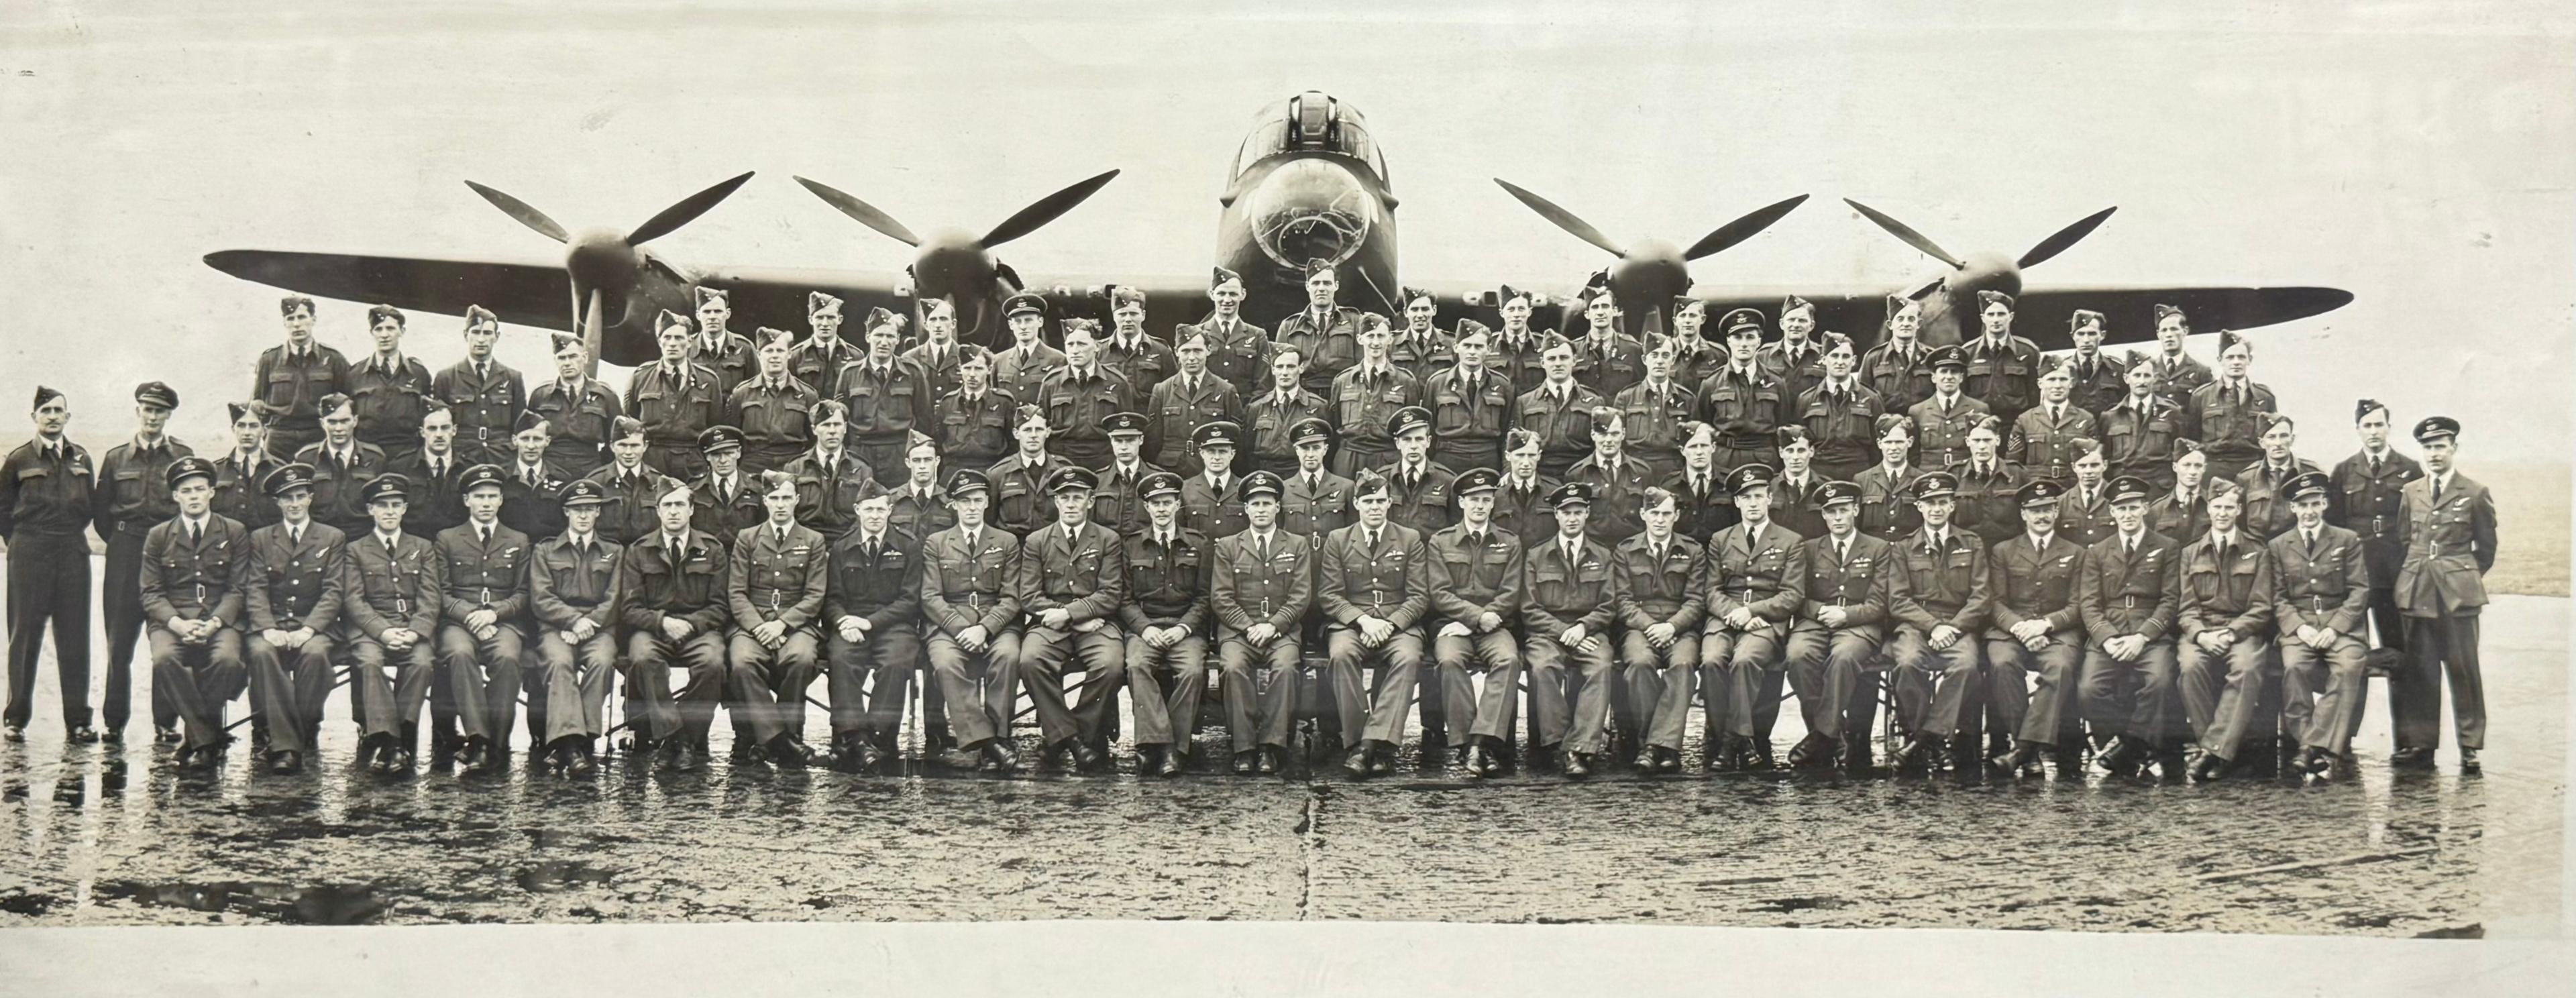
[[(62, 725), (90, 723), (90, 545), (77, 535), (21, 530), (8, 548), (8, 715), (15, 728), (36, 712), (36, 653), (54, 625), (62, 674)], [(155, 684), (157, 689), (160, 684)]]

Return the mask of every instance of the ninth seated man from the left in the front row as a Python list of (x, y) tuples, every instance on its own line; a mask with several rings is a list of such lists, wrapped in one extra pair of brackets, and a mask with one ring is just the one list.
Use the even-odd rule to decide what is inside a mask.
[[(1043, 419), (1043, 417), (1041, 417)], [(958, 525), (922, 538), (922, 648), (930, 682), (940, 684), (953, 761), (984, 756), (987, 772), (1020, 769), (1010, 743), (1018, 707), (1020, 538), (984, 522), (992, 478), (974, 468), (948, 476), (948, 509)]]

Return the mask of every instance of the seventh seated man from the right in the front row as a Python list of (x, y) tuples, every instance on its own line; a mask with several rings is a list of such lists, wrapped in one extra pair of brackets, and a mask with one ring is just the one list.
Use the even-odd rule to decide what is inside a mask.
[(1770, 520), (1772, 468), (1739, 466), (1726, 476), (1736, 496), (1734, 527), (1708, 538), (1708, 622), (1700, 625), (1700, 705), (1708, 769), (1772, 769), (1770, 728), (1780, 718), (1780, 643), (1806, 594), (1803, 538)]

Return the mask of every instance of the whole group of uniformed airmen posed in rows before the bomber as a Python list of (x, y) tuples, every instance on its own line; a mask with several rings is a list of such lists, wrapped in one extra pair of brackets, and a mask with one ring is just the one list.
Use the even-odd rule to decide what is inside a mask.
[[(623, 394), (562, 334), (531, 388), (484, 309), (430, 373), (374, 306), (350, 363), (291, 296), (219, 455), (165, 432), (162, 383), (95, 460), (36, 391), (36, 440), (0, 463), (8, 738), (49, 625), (70, 738), (100, 738), (95, 530), (103, 738), (142, 635), (152, 725), (191, 767), (222, 764), (247, 687), (258, 764), (296, 772), (345, 669), (379, 772), (415, 767), (422, 705), (435, 764), (505, 767), (526, 702), (531, 756), (587, 774), (621, 674), (639, 764), (706, 764), (721, 710), (737, 764), (863, 772), (899, 759), (927, 666), (930, 748), (984, 772), (1023, 764), (1023, 692), (1041, 767), (1113, 767), (1121, 689), (1149, 774), (1193, 769), (1208, 697), (1236, 774), (1291, 764), (1301, 702), (1352, 777), (1394, 764), (1417, 705), (1435, 767), (1512, 767), (1525, 720), (1566, 777), (1677, 772), (1695, 700), (1708, 769), (1775, 769), (1785, 694), (1785, 767), (1868, 769), (1886, 687), (1901, 772), (2331, 779), (2372, 648), (2393, 764), (2432, 767), (2447, 679), (2478, 767), (2496, 525), (2447, 417), (2414, 424), (2419, 463), (2360, 401), (2360, 453), (2324, 471), (2251, 342), (2221, 334), (2210, 370), (2169, 306), (2143, 352), (2102, 352), (2107, 316), (2076, 311), (2076, 350), (2043, 355), (2012, 296), (1984, 293), (1963, 345), (1888, 298), (1855, 352), (1798, 298), (1713, 327), (1682, 298), (1638, 340), (1607, 288), (1571, 337), (1512, 288), (1499, 329), (1443, 329), (1414, 291), (1396, 319), (1342, 306), (1327, 265), (1306, 288), (1262, 329), (1218, 268), (1211, 316), (1170, 337), (1131, 288), (1108, 329), (1023, 293), (997, 350), (945, 301), (917, 337), (873, 309), (848, 340), (827, 293), (804, 337), (744, 337), (698, 288)], [(1953, 738), (1978, 718), (1984, 746)]]

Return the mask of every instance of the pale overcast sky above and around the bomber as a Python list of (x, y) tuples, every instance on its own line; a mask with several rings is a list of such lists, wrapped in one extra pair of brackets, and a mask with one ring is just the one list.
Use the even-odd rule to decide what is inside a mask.
[[(2401, 424), (2455, 414), (2494, 458), (2563, 458), (2571, 442), (2576, 72), (2568, 23), (2545, 5), (2478, 5), (2476, 21), (2445, 5), (2043, 5), (1984, 23), (1963, 18), (1994, 5), (1924, 21), (1564, 3), (93, 8), (0, 13), (0, 396), (67, 388), (75, 437), (100, 450), (129, 430), (144, 378), (180, 391), (183, 437), (216, 445), (222, 401), (247, 394), (252, 358), (278, 340), (278, 293), (206, 268), (211, 250), (551, 260), (551, 242), (461, 180), (567, 226), (626, 229), (760, 170), (654, 247), (683, 265), (891, 270), (904, 247), (788, 175), (912, 229), (981, 231), (1123, 167), (1002, 257), (1033, 280), (1195, 275), (1249, 116), (1303, 87), (1368, 116), (1404, 198), (1406, 275), (1561, 288), (1602, 262), (1497, 175), (1615, 239), (1674, 244), (1816, 195), (1698, 262), (1703, 286), (1893, 288), (1929, 273), (1844, 195), (1953, 252), (2004, 255), (2120, 206), (2030, 286), (2357, 296), (2259, 334), (2257, 378), (2303, 417), (2311, 458), (2349, 450), (2357, 396), (2391, 401)], [(361, 306), (325, 301), (319, 319), (325, 342), (366, 352)], [(410, 352), (453, 363), (456, 319), (415, 322)], [(505, 360), (549, 368), (533, 334)]]

